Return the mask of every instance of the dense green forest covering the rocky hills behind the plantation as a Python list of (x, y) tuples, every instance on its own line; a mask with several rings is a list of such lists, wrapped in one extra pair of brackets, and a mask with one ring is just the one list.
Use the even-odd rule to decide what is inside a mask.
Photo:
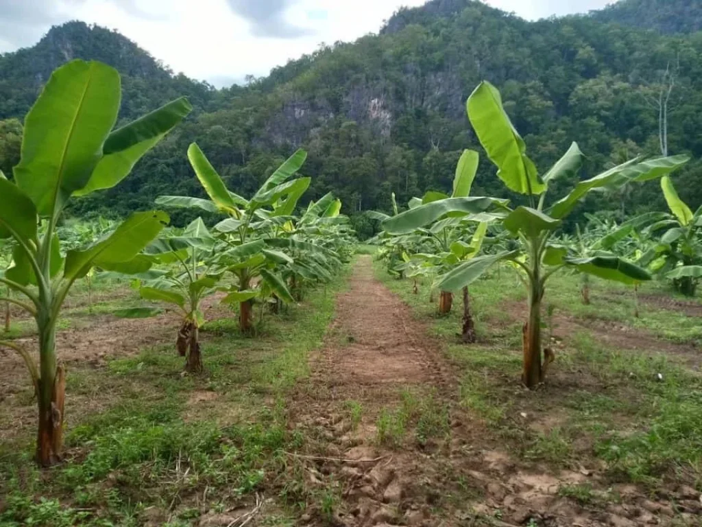
[[(124, 215), (159, 194), (201, 193), (185, 157), (197, 138), (227, 186), (244, 195), (305, 148), (308, 197), (333, 191), (366, 233), (370, 221), (356, 213), (389, 210), (392, 192), (402, 204), (450, 188), (461, 150), (477, 148), (465, 100), (482, 79), (501, 90), (541, 171), (578, 141), (588, 156), (583, 177), (633, 155), (661, 153), (658, 103), (672, 87), (668, 151), (695, 160), (676, 176), (694, 209), (702, 204), (701, 23), (702, 9), (691, 0), (623, 0), (590, 15), (538, 22), (478, 1), (432, 0), (401, 9), (379, 34), (321, 47), (247, 86), (216, 90), (173, 74), (116, 32), (69, 22), (32, 48), (0, 56), (0, 169), (16, 161), (18, 119), (49, 72), (71, 58), (95, 58), (123, 74), (121, 118), (180, 95), (194, 112), (133, 177), (78, 200), (73, 214)], [(480, 168), (474, 193), (501, 195), (494, 169), (485, 161)], [(660, 195), (651, 183), (606, 202), (609, 214), (621, 216), (661, 209)], [(601, 198), (579, 212), (596, 207)]]

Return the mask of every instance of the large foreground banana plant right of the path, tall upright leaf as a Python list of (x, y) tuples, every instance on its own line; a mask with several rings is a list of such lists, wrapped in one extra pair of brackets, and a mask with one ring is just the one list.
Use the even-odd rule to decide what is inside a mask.
[[(568, 267), (627, 284), (651, 279), (647, 271), (619, 256), (580, 258), (569, 254), (569, 247), (552, 243), (563, 219), (592, 190), (659, 178), (681, 167), (689, 158), (674, 156), (646, 161), (630, 160), (593, 178), (579, 181), (570, 193), (547, 205), (550, 183), (565, 176), (575, 176), (580, 171), (583, 154), (578, 145), (573, 143), (546, 174), (539, 176), (534, 162), (527, 156), (524, 140), (510, 122), (500, 93), (494, 86), (489, 82), (479, 84), (468, 98), (466, 110), (477, 138), (498, 168), (498, 178), (509, 190), (523, 195), (527, 204), (515, 209), (504, 206), (507, 214), (500, 222), (514, 238), (515, 249), (470, 259), (443, 275), (439, 287), (458, 291), (501, 261), (511, 261), (519, 266), (519, 278), (528, 292), (528, 316), (522, 327), (522, 382), (533, 389), (543, 382), (548, 365), (554, 359), (552, 352), (545, 348), (542, 360), (541, 346), (541, 304), (546, 283), (554, 273)], [(484, 200), (487, 198), (450, 197), (422, 204), (386, 219), (383, 228), (390, 233), (401, 234), (449, 214), (477, 214), (487, 209)]]

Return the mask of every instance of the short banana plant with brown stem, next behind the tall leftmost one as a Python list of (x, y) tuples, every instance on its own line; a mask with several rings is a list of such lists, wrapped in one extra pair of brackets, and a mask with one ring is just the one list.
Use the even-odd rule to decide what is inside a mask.
[[(183, 233), (161, 236), (143, 251), (142, 257), (158, 263), (165, 271), (149, 271), (155, 278), (137, 280), (142, 299), (174, 306), (180, 313), (176, 336), (178, 355), (185, 357), (185, 371), (202, 372), (199, 330), (205, 323), (201, 309), (204, 299), (214, 294), (223, 270), (214, 265), (218, 244), (201, 218), (188, 225)], [(144, 318), (161, 310), (128, 308), (117, 315)]]

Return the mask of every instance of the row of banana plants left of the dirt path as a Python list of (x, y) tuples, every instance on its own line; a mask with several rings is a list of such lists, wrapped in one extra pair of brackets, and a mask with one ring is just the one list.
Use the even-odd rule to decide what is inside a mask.
[[(65, 370), (56, 353), (56, 324), (76, 280), (90, 280), (95, 269), (133, 276), (143, 299), (180, 313), (176, 348), (185, 356), (185, 370), (200, 372), (206, 297), (219, 292), (223, 303), (237, 306), (240, 330), (250, 334), (256, 299), (262, 315), (266, 305), (276, 311), (282, 302), (300, 300), (306, 287), (333, 278), (355, 241), (332, 195), (296, 214), (310, 186), (310, 178), (296, 176), (307, 157), (303, 150), (246, 199), (227, 190), (195, 144), (188, 158), (209, 199), (163, 196), (157, 204), (223, 216), (212, 228), (199, 218), (185, 229), (166, 228), (168, 214), (159, 210), (137, 212), (112, 229), (98, 224), (77, 233), (62, 226), (69, 200), (117, 185), (191, 110), (180, 98), (113, 131), (120, 98), (112, 67), (81, 60), (60, 67), (25, 119), (13, 181), (0, 173), (0, 240), (11, 251), (0, 274), (7, 291), (0, 302), (36, 321), (39, 363), (14, 341), (0, 346), (22, 356), (34, 384), (37, 461), (43, 466), (61, 458)], [(116, 314), (135, 318), (160, 311), (139, 307)]]

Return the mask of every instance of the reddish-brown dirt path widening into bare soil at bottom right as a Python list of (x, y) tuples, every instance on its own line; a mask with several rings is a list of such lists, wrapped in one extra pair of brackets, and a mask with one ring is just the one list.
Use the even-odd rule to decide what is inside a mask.
[[(330, 519), (319, 502), (311, 503), (298, 525), (671, 524), (669, 503), (650, 502), (635, 487), (618, 489), (620, 505), (581, 507), (560, 497), (559, 488), (590, 483), (606, 489), (609, 482), (589, 469), (561, 471), (512, 455), (508, 442), (496, 440), (458, 404), (458, 368), (427, 336), (428, 328), (373, 278), (368, 257), (359, 260), (350, 289), (340, 295), (332, 329), (324, 349), (312, 358), (310, 382), (300, 386), (291, 403), (291, 426), (314, 438), (291, 457), (305, 471), (313, 495), (331, 486), (341, 505)], [(397, 408), (403, 389), (433, 394), (449, 409), (445, 437), (420, 445), (409, 429), (410, 438), (396, 448), (378, 441), (378, 415), (383, 408)], [(346, 401), (362, 405), (357, 428)], [(555, 426), (548, 419), (536, 425), (545, 431)]]

